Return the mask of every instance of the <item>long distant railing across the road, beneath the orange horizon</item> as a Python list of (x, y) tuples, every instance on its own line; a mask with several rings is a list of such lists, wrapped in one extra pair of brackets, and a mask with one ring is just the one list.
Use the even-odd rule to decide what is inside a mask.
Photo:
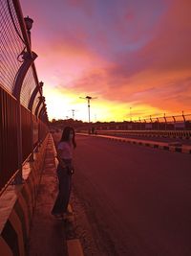
[(177, 116), (163, 116), (159, 118), (121, 123), (90, 123), (76, 128), (79, 133), (117, 135), (117, 136), (146, 136), (191, 139), (191, 114)]

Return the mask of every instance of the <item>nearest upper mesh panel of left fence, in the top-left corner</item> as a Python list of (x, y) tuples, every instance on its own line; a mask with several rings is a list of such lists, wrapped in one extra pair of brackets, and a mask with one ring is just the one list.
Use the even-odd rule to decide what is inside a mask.
[(25, 43), (11, 0), (0, 1), (0, 28), (0, 83), (12, 92), (15, 75), (22, 64), (19, 57)]

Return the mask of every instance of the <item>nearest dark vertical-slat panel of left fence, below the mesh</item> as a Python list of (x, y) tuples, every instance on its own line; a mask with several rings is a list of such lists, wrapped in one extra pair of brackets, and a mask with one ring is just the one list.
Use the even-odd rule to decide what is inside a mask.
[(18, 169), (17, 102), (0, 87), (0, 190)]

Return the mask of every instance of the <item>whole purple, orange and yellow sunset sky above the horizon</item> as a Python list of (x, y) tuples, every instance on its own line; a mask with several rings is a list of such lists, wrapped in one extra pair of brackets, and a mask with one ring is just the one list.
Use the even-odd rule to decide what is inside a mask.
[[(50, 120), (191, 113), (190, 0), (20, 0)], [(130, 117), (131, 115), (131, 117)]]

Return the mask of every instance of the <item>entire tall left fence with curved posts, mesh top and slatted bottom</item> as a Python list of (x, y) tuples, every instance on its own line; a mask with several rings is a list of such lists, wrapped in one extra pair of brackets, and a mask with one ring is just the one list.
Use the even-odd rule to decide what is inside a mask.
[(18, 0), (0, 1), (0, 32), (1, 194), (12, 177), (22, 181), (22, 163), (47, 135), (48, 115)]

